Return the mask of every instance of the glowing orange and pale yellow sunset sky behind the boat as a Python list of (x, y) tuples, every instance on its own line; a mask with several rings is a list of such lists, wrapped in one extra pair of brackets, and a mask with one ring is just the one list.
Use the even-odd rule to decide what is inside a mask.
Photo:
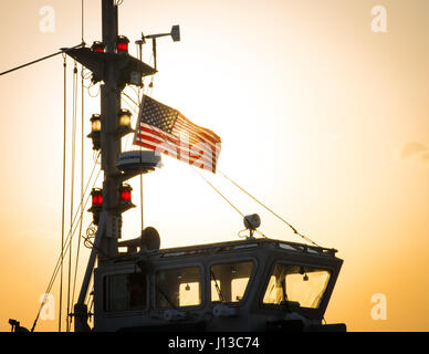
[[(101, 0), (84, 2), (91, 45), (102, 40)], [(387, 11), (386, 31), (374, 30), (377, 6)], [(54, 10), (53, 31), (43, 27), (44, 7)], [(158, 40), (153, 97), (222, 138), (219, 170), (301, 233), (338, 250), (344, 266), (325, 319), (349, 331), (429, 331), (428, 17), (427, 0), (124, 0), (119, 7), (119, 33), (133, 55), (142, 32), (180, 24), (180, 42)], [(81, 0), (11, 1), (0, 27), (3, 72), (79, 44)], [(150, 51), (148, 43), (147, 63)], [(69, 58), (67, 191), (73, 65)], [(10, 331), (9, 319), (31, 327), (60, 254), (63, 84), (61, 55), (0, 76), (0, 331)], [(84, 110), (86, 136), (100, 96), (85, 90)], [(76, 145), (74, 209), (80, 135)], [(189, 166), (168, 157), (164, 165), (144, 177), (144, 222), (158, 229), (161, 247), (238, 240), (240, 215)], [(85, 138), (85, 181), (93, 166)], [(243, 214), (258, 212), (268, 237), (303, 241), (221, 175), (205, 176)], [(130, 185), (140, 207), (139, 177)], [(83, 233), (90, 223), (85, 212)], [(139, 233), (135, 208), (124, 214), (123, 236)], [(87, 256), (83, 248), (76, 291)], [(57, 281), (52, 294), (59, 299)], [(375, 294), (387, 301), (385, 320), (372, 317)], [(56, 329), (55, 319), (40, 321), (36, 331)]]

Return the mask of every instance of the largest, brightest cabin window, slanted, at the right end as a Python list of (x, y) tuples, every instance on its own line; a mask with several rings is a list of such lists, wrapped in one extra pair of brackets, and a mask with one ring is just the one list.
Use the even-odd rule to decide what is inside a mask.
[(329, 278), (329, 271), (324, 269), (278, 263), (270, 277), (263, 303), (293, 301), (301, 308), (317, 309)]

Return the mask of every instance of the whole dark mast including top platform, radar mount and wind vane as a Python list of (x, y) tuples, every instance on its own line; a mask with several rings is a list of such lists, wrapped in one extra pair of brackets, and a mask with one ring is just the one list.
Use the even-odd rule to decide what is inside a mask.
[[(154, 75), (157, 70), (145, 64), (142, 60), (129, 55), (127, 46), (125, 50), (119, 50), (119, 44), (123, 39), (118, 37), (118, 6), (115, 2), (115, 0), (102, 0), (102, 45), (105, 50), (94, 51), (88, 48), (66, 50), (70, 56), (92, 71), (92, 81), (94, 83), (103, 82), (101, 86), (101, 131), (98, 146), (101, 148), (102, 169), (104, 171), (103, 202), (94, 247), (86, 266), (77, 303), (74, 305), (76, 332), (90, 330), (85, 299), (95, 261), (98, 259), (98, 263), (102, 264), (118, 256), (122, 214), (134, 207), (130, 200), (125, 205), (124, 201), (121, 201), (121, 190), (126, 188), (123, 186), (123, 183), (139, 174), (154, 170), (160, 162), (160, 157), (156, 156), (155, 152), (150, 152), (150, 154), (140, 152), (138, 155), (139, 163), (136, 165), (132, 164), (130, 167), (128, 166), (129, 168), (121, 165), (121, 170), (117, 167), (119, 155), (122, 154), (121, 138), (134, 132), (128, 126), (121, 126), (121, 115), (124, 111), (121, 108), (122, 91), (127, 84), (142, 87), (143, 76)], [(155, 38), (164, 35), (171, 35), (174, 41), (179, 41), (179, 27), (174, 25), (171, 33), (154, 34), (147, 38), (153, 38), (155, 41)], [(142, 35), (142, 42), (144, 38)], [(142, 159), (143, 155), (145, 155), (145, 162)]]

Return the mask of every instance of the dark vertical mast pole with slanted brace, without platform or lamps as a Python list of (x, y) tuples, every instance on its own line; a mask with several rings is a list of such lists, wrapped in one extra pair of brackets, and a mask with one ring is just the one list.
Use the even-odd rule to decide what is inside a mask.
[[(115, 44), (118, 37), (117, 6), (114, 0), (102, 0), (103, 42), (106, 46), (104, 55), (104, 85), (101, 87), (101, 155), (103, 181), (103, 211), (94, 241), (77, 303), (74, 305), (75, 331), (87, 332), (87, 306), (85, 298), (94, 269), (95, 260), (102, 262), (117, 256), (117, 239), (121, 237), (121, 212), (118, 211), (119, 171), (116, 168), (121, 154), (121, 135), (118, 134), (118, 112), (121, 110), (121, 92), (118, 65), (115, 61)], [(113, 54), (113, 55), (112, 55)], [(95, 71), (93, 71), (95, 72)], [(100, 251), (98, 251), (100, 250)]]

